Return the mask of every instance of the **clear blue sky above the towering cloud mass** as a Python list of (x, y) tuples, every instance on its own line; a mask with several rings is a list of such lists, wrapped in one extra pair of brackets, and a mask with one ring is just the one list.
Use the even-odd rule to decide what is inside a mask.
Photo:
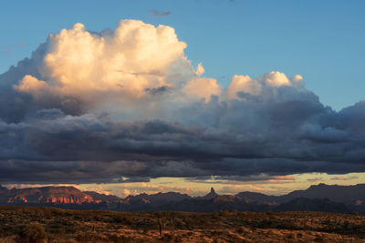
[[(235, 74), (299, 74), (320, 101), (339, 110), (364, 99), (364, 1), (2, 1), (0, 73), (75, 23), (114, 28), (120, 19), (171, 25), (185, 55), (223, 86)], [(171, 11), (153, 16), (151, 9)]]

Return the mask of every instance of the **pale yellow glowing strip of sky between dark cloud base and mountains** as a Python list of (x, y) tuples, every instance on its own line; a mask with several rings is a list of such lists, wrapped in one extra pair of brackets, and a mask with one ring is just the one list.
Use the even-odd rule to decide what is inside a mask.
[(243, 191), (253, 191), (267, 195), (284, 195), (293, 190), (307, 189), (311, 185), (325, 183), (327, 185), (356, 185), (364, 183), (365, 173), (349, 173), (345, 175), (328, 175), (326, 173), (303, 173), (289, 176), (277, 176), (269, 179), (252, 177), (248, 181), (220, 180), (212, 177), (194, 181), (189, 177), (159, 177), (150, 182), (101, 183), (101, 184), (5, 184), (5, 187), (47, 187), (72, 186), (82, 191), (96, 191), (106, 195), (128, 197), (141, 193), (155, 194), (159, 192), (180, 192), (191, 196), (203, 196), (214, 187), (218, 194), (235, 195)]

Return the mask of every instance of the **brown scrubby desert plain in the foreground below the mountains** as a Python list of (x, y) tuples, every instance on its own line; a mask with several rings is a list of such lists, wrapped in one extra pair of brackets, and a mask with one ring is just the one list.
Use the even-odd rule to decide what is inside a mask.
[(0, 207), (0, 242), (365, 242), (365, 216)]

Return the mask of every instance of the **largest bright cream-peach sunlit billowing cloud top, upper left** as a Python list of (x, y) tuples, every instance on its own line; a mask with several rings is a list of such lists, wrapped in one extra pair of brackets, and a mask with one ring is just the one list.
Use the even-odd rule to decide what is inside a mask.
[(48, 36), (47, 53), (36, 64), (37, 76), (47, 83), (27, 75), (16, 87), (34, 96), (42, 86), (50, 94), (76, 96), (88, 103), (104, 96), (136, 99), (145, 95), (146, 88), (167, 85), (172, 79), (169, 66), (175, 62), (182, 62), (180, 68), (192, 68), (183, 59), (185, 46), (164, 25), (156, 28), (124, 20), (114, 31), (97, 35), (76, 24)]

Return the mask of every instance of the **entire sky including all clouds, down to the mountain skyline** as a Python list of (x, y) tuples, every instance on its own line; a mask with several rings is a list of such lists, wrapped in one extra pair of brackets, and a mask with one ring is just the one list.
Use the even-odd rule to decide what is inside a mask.
[(2, 1), (0, 183), (121, 197), (363, 183), (364, 7)]

